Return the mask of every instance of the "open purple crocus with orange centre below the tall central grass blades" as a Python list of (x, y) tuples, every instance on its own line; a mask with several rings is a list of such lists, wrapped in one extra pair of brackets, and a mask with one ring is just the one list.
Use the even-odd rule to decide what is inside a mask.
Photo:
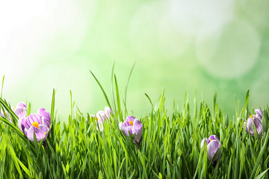
[(140, 120), (134, 116), (128, 116), (124, 123), (119, 123), (119, 129), (123, 131), (123, 134), (129, 137), (130, 134), (135, 134), (134, 142), (139, 143), (143, 134), (143, 125)]

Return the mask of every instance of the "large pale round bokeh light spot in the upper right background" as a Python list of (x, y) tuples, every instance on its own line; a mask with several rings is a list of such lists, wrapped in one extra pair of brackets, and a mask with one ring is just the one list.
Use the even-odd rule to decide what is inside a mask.
[(235, 19), (219, 32), (201, 30), (195, 52), (203, 68), (213, 76), (235, 78), (251, 72), (259, 55), (259, 35), (247, 21)]

